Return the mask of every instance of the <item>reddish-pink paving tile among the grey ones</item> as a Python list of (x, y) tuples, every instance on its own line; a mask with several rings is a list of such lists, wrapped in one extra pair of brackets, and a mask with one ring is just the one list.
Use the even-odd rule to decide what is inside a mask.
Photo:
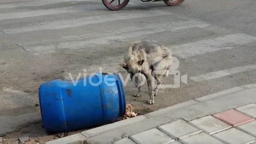
[(255, 120), (254, 118), (247, 116), (235, 109), (223, 111), (213, 116), (231, 126), (238, 126)]

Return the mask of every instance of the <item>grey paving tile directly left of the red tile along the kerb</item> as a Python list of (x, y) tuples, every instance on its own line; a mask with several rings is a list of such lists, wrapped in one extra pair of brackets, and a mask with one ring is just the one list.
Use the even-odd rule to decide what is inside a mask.
[(220, 121), (219, 119), (213, 117), (213, 116), (205, 116), (202, 118), (194, 119), (193, 121), (189, 122), (198, 129), (203, 130), (207, 134), (214, 134), (226, 129), (229, 129), (231, 126)]

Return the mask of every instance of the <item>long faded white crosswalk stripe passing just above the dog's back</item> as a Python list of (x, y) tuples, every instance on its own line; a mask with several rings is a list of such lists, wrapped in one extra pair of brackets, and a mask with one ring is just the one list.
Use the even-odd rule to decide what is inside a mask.
[[(37, 52), (42, 50), (55, 50), (57, 49), (71, 49), (71, 48), (79, 48), (83, 46), (95, 46), (95, 45), (107, 45), (110, 44), (111, 41), (116, 39), (126, 39), (131, 37), (139, 37), (142, 35), (149, 35), (160, 33), (164, 31), (174, 31), (174, 30), (181, 30), (181, 29), (188, 29), (193, 27), (204, 28), (209, 26), (207, 23), (198, 22), (198, 21), (177, 21), (177, 22), (170, 22), (170, 23), (162, 23), (159, 25), (148, 25), (141, 29), (133, 29), (127, 28), (124, 30), (120, 30), (118, 33), (111, 33), (107, 35), (99, 35), (90, 37), (83, 37), (83, 36), (73, 36), (73, 37), (63, 37), (63, 39), (59, 39), (58, 44), (43, 44), (43, 45), (32, 45), (26, 46), (26, 49), (30, 52)], [(23, 43), (26, 44), (26, 43)], [(23, 45), (21, 44), (21, 45)], [(38, 53), (36, 53), (38, 54)]]

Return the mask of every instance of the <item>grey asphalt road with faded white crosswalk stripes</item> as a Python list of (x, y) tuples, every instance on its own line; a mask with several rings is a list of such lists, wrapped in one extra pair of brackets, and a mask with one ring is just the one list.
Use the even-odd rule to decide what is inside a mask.
[[(99, 67), (126, 76), (119, 63), (139, 39), (170, 47), (179, 61), (175, 78), (185, 82), (161, 89), (155, 105), (147, 105), (147, 86), (134, 98), (129, 81), (126, 101), (140, 113), (255, 83), (255, 6), (254, 0), (187, 0), (172, 7), (133, 0), (122, 11), (109, 11), (100, 1), (2, 0), (0, 136), (40, 121), (34, 105), (43, 82)], [(174, 75), (164, 84), (174, 84)]]

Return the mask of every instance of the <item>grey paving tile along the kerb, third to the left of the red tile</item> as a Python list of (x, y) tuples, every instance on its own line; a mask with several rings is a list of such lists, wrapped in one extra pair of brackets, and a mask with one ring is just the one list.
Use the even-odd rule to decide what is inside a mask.
[(130, 139), (137, 144), (167, 144), (175, 141), (155, 128), (134, 134), (130, 136)]

